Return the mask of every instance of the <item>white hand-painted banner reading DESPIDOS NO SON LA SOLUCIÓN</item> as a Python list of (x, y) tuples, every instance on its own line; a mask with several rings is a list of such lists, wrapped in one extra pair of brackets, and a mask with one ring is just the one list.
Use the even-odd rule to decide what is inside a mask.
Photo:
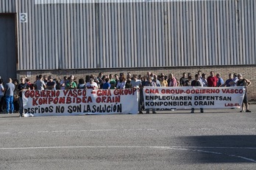
[(136, 89), (27, 90), (24, 116), (138, 114)]

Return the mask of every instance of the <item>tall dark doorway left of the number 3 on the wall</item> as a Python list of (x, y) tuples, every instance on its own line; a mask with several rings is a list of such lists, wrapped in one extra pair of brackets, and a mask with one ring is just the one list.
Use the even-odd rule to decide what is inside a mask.
[(16, 78), (15, 14), (0, 15), (0, 76)]

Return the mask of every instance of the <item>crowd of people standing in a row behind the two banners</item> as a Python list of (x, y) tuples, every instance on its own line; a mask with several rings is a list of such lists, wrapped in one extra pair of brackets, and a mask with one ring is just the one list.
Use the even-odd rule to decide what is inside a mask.
[[(165, 75), (160, 73), (156, 75), (154, 73), (147, 72), (146, 75), (132, 75), (131, 73), (120, 73), (120, 74), (109, 74), (104, 75), (104, 73), (99, 73), (96, 75), (86, 75), (84, 78), (75, 78), (74, 75), (69, 77), (64, 76), (62, 80), (58, 81), (54, 79), (52, 75), (37, 75), (36, 81), (31, 83), (29, 78), (22, 77), (21, 81), (18, 82), (17, 79), (8, 78), (7, 83), (0, 78), (0, 111), (4, 106), (4, 101), (6, 104), (5, 113), (13, 114), (14, 111), (20, 113), (20, 117), (23, 114), (23, 101), (22, 92), (27, 89), (125, 89), (125, 88), (137, 88), (142, 89), (143, 86), (210, 86), (210, 87), (220, 87), (220, 86), (250, 86), (251, 82), (243, 78), (239, 73), (230, 73), (229, 78), (224, 81), (221, 78), (221, 74), (210, 72), (210, 76), (206, 76), (206, 73), (202, 73), (201, 70), (198, 71), (194, 76), (191, 73), (183, 73), (181, 78), (176, 78), (173, 73)], [(141, 100), (139, 103), (139, 114), (143, 114), (143, 95), (141, 90)], [(251, 112), (248, 108), (247, 95), (245, 94), (243, 98), (242, 111)], [(203, 108), (200, 109), (203, 113)], [(155, 114), (156, 111), (153, 109), (152, 113)], [(191, 109), (191, 113), (194, 113), (194, 109)], [(146, 109), (146, 114), (149, 114), (149, 109)]]

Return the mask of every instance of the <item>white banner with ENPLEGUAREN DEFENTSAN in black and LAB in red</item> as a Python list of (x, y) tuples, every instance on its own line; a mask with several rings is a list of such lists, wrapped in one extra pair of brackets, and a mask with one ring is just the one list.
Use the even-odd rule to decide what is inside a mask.
[(143, 100), (145, 108), (240, 108), (244, 93), (243, 86), (146, 86)]

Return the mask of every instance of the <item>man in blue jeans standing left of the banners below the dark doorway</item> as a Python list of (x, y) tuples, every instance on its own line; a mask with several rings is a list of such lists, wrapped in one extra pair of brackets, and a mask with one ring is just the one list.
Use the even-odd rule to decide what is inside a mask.
[(13, 84), (12, 78), (8, 78), (8, 83), (4, 86), (4, 92), (5, 92), (5, 101), (6, 101), (6, 111), (7, 114), (11, 113), (13, 114), (14, 106), (13, 106), (13, 92), (15, 90), (15, 86)]

